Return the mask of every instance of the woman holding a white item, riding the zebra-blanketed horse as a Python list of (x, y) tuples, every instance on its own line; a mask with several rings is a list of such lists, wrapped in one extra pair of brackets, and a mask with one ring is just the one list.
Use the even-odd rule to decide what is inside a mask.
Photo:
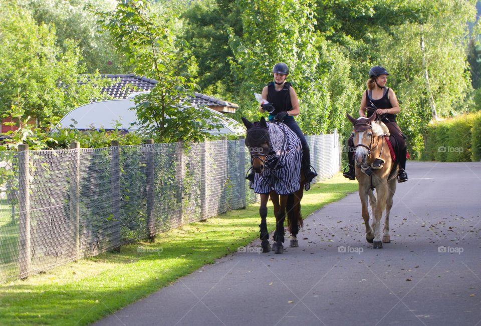
[[(261, 96), (263, 100), (269, 103), (261, 104), (259, 111), (261, 113), (269, 112), (269, 121), (282, 121), (288, 126), (301, 140), (302, 144), (302, 166), (306, 183), (310, 183), (317, 176), (317, 173), (311, 170), (311, 154), (306, 137), (301, 128), (294, 120), (294, 116), (300, 113), (299, 99), (296, 91), (290, 83), (286, 82), (289, 75), (289, 67), (285, 63), (277, 63), (272, 69), (274, 81), (269, 82), (262, 90)], [(249, 174), (246, 179), (254, 181), (254, 171)]]

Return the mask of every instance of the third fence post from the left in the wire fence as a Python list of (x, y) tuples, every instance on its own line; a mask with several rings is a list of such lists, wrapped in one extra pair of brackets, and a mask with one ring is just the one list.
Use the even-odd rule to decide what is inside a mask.
[(110, 142), (110, 155), (112, 164), (112, 244), (115, 251), (120, 251), (120, 153), (119, 141)]

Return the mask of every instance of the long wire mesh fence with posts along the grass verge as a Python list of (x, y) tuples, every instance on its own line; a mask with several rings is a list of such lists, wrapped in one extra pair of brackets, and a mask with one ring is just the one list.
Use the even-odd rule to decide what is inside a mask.
[[(308, 137), (315, 182), (337, 133)], [(115, 145), (115, 143), (113, 144)], [(0, 152), (0, 281), (153, 238), (258, 200), (244, 140)]]

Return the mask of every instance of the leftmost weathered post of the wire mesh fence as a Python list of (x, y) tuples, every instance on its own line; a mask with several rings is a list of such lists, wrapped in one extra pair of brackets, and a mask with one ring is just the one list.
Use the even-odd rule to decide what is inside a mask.
[(19, 265), (20, 279), (27, 278), (32, 268), (30, 243), (30, 159), (29, 145), (19, 145)]

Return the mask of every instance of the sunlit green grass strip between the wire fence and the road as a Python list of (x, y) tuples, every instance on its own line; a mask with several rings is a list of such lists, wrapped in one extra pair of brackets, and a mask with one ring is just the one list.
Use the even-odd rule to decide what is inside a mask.
[[(341, 174), (312, 186), (302, 201), (306, 217), (357, 190)], [(275, 219), (272, 205), (269, 229)], [(88, 324), (144, 297), (204, 264), (235, 252), (259, 236), (259, 205), (173, 229), (154, 243), (123, 246), (120, 253), (0, 284), (0, 324)]]

